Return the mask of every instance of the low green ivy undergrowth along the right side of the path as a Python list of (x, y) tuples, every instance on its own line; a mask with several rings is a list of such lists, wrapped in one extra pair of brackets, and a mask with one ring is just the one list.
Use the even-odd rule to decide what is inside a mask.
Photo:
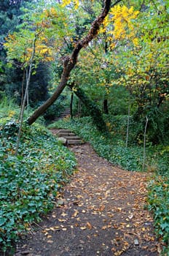
[[(137, 143), (125, 146), (127, 117), (107, 116), (109, 134), (98, 132), (91, 118), (79, 118), (72, 121), (64, 120), (51, 124), (51, 128), (71, 129), (84, 141), (90, 142), (95, 151), (109, 160), (114, 165), (119, 165), (125, 170), (143, 170), (144, 148)], [(130, 136), (130, 133), (129, 133)], [(132, 135), (131, 135), (132, 137)], [(129, 138), (130, 140), (130, 138)], [(165, 243), (163, 254), (169, 253), (169, 147), (164, 145), (152, 146), (146, 143), (145, 170), (152, 173), (152, 181), (149, 183), (149, 210), (154, 214), (154, 225), (157, 236)]]

